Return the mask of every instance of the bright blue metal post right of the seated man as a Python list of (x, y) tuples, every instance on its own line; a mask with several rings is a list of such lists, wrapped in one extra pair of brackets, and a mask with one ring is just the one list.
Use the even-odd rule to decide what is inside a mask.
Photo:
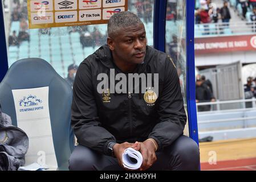
[(188, 106), (189, 135), (198, 144), (194, 69), (194, 1), (186, 0), (186, 101)]

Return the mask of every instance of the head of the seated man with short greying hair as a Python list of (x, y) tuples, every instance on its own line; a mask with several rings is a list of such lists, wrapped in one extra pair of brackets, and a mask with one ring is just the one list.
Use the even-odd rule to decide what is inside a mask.
[(147, 44), (143, 22), (129, 11), (114, 14), (108, 22), (107, 43), (115, 61), (143, 63)]

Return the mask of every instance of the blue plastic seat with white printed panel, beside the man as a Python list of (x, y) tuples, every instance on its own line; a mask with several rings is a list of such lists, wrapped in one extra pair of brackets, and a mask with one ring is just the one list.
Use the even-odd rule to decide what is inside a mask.
[[(18, 93), (17, 97), (14, 93)], [(42, 95), (44, 97), (41, 97)], [(23, 99), (35, 104), (26, 106)], [(45, 151), (45, 162), (48, 167), (68, 170), (68, 159), (74, 148), (74, 134), (70, 126), (72, 89), (54, 68), (42, 59), (16, 61), (0, 83), (0, 101), (2, 111), (10, 115), (13, 125), (21, 127), (29, 137), (26, 165), (27, 162), (38, 162), (39, 154)], [(21, 114), (29, 118), (28, 116), (32, 117), (33, 114), (37, 116), (42, 113), (46, 113), (49, 118), (47, 121), (40, 122), (40, 118), (21, 119)], [(46, 131), (50, 135), (40, 136), (40, 133)], [(52, 145), (48, 141), (52, 141)], [(50, 150), (52, 152), (46, 152)], [(50, 166), (53, 161), (56, 162), (56, 166)]]

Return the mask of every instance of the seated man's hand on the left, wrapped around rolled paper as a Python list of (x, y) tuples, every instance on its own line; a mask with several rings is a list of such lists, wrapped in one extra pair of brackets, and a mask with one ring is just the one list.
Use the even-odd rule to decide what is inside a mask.
[(124, 143), (120, 143), (120, 144), (116, 143), (113, 146), (114, 155), (115, 155), (116, 159), (118, 160), (119, 166), (121, 166), (125, 170), (128, 170), (128, 169), (125, 168), (123, 165), (123, 154), (124, 154), (124, 150), (129, 147), (132, 147), (135, 150), (140, 150), (140, 143), (139, 142), (135, 142), (135, 143), (124, 142)]

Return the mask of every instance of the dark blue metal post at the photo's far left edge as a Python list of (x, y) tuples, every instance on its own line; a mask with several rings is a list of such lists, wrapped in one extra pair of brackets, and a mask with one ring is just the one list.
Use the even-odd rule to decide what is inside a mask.
[(5, 22), (3, 18), (3, 3), (0, 0), (0, 82), (8, 70), (7, 46), (5, 38)]

